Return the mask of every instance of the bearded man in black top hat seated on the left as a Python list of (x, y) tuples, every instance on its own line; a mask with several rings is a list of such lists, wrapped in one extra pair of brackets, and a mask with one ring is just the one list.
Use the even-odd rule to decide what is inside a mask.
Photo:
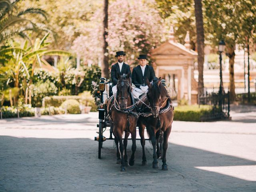
[(117, 89), (116, 89), (116, 84), (118, 82), (117, 74), (119, 73), (119, 75), (121, 75), (121, 74), (130, 73), (130, 75), (131, 75), (130, 66), (128, 64), (124, 63), (124, 56), (125, 56), (124, 51), (116, 52), (115, 57), (117, 58), (118, 62), (116, 64), (114, 64), (111, 68), (111, 80), (112, 80), (113, 94), (115, 94), (117, 91)]

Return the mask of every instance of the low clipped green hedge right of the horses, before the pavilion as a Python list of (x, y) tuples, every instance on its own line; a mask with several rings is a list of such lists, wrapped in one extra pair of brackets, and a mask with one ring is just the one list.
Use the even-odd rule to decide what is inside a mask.
[(174, 108), (174, 120), (200, 122), (204, 115), (211, 112), (211, 106), (177, 106)]

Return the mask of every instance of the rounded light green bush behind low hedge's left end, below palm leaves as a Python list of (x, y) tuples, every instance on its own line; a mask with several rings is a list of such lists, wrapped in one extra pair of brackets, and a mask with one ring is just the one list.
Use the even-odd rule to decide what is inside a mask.
[(45, 96), (56, 95), (58, 88), (50, 80), (38, 82), (32, 91), (32, 107), (41, 107)]

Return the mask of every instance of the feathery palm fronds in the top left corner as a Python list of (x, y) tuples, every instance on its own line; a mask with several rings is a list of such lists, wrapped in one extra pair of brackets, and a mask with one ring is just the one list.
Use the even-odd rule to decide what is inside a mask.
[[(14, 5), (20, 0), (0, 0), (0, 44), (8, 38), (19, 35), (22, 38), (28, 38), (26, 31), (37, 30), (40, 27), (31, 20), (24, 18), (26, 14), (39, 14), (46, 19), (46, 12), (40, 8), (28, 8), (14, 14)], [(47, 30), (46, 28), (41, 28)]]

